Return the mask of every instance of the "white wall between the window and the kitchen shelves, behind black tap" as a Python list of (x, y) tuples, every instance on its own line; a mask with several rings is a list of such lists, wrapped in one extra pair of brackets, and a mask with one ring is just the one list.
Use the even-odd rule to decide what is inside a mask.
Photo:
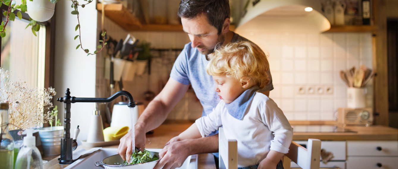
[[(95, 97), (96, 85), (96, 56), (87, 56), (83, 50), (76, 50), (78, 35), (75, 27), (78, 24), (76, 15), (72, 15), (71, 2), (61, 0), (57, 2), (56, 31), (55, 31), (55, 98), (65, 96), (66, 88), (70, 88), (71, 96), (91, 98)], [(97, 10), (95, 2), (85, 8), (79, 8), (84, 48), (94, 51), (97, 40)], [(59, 118), (63, 121), (64, 104), (57, 102)], [(74, 103), (71, 106), (71, 137), (74, 129), (80, 125), (78, 142), (86, 140), (90, 125), (90, 116), (94, 104)]]

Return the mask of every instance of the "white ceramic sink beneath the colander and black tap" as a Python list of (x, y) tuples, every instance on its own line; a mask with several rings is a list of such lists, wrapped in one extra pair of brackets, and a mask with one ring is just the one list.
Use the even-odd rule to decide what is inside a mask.
[[(160, 152), (162, 149), (148, 148), (146, 150), (151, 152)], [(102, 167), (97, 167), (94, 165), (94, 163), (97, 161), (102, 161), (104, 158), (113, 156), (115, 154), (117, 154), (117, 148), (101, 148), (98, 150), (98, 152), (90, 156), (76, 160), (74, 163), (68, 165), (68, 167), (65, 169), (100, 169)], [(197, 166), (197, 155), (192, 155), (185, 159), (184, 163), (181, 167), (179, 167), (179, 169), (197, 169)]]

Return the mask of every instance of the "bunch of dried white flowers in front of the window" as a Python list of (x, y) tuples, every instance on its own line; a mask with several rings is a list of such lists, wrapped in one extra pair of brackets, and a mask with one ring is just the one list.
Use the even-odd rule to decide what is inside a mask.
[(0, 68), (0, 102), (9, 102), (9, 129), (41, 127), (51, 119), (54, 88), (32, 88), (21, 80), (10, 80), (11, 72)]

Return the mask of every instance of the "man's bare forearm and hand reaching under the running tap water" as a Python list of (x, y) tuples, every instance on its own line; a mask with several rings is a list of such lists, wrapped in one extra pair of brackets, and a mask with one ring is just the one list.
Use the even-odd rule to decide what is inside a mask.
[(166, 119), (168, 113), (187, 92), (189, 85), (183, 85), (170, 78), (162, 91), (148, 104), (144, 112), (135, 124), (135, 146), (132, 144), (132, 132), (129, 131), (120, 139), (117, 153), (123, 160), (129, 161), (135, 147), (144, 150), (146, 132), (160, 126)]

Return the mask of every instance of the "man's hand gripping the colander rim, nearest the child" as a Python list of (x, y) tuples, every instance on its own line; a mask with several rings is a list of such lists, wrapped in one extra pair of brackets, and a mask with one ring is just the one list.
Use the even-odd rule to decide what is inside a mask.
[(156, 164), (154, 169), (161, 169), (162, 167), (163, 169), (175, 169), (177, 167), (181, 167), (185, 159), (187, 159), (187, 157), (190, 155), (189, 144), (187, 144), (187, 140), (172, 142), (174, 138), (166, 143), (166, 146), (162, 149), (162, 151), (160, 151), (160, 161), (158, 164)]

